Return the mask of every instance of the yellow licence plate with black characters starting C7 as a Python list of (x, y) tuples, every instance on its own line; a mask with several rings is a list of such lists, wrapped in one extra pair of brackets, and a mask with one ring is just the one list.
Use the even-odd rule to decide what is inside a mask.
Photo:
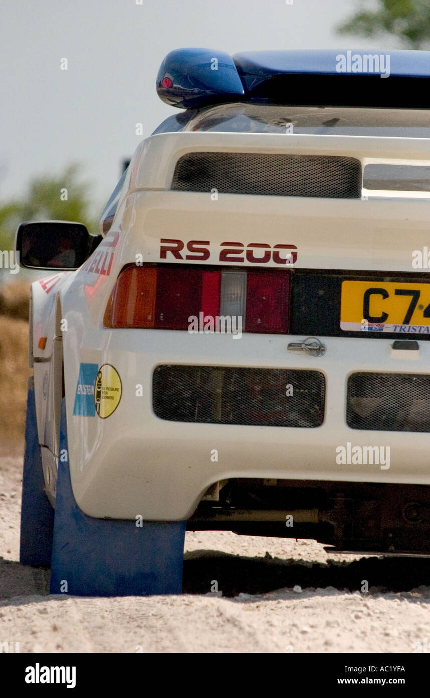
[(430, 334), (430, 283), (343, 281), (340, 327), (347, 332)]

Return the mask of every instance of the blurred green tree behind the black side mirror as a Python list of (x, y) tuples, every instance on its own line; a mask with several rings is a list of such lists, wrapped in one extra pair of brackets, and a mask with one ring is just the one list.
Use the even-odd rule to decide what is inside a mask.
[(97, 233), (98, 219), (91, 213), (89, 189), (78, 165), (69, 165), (60, 174), (35, 177), (22, 199), (0, 205), (0, 250), (13, 248), (15, 231), (22, 221), (78, 221)]

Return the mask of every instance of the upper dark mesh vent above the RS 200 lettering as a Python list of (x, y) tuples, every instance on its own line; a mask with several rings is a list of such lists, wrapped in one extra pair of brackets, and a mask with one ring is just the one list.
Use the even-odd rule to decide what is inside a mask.
[(264, 153), (188, 153), (176, 163), (171, 188), (225, 194), (360, 198), (355, 158)]

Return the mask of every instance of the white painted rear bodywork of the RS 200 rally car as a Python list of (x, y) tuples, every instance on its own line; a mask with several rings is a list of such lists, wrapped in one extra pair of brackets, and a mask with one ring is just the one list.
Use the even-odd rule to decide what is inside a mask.
[[(89, 272), (86, 265), (62, 274), (49, 293), (41, 292), (39, 282), (33, 284), (33, 354), (45, 359), (34, 364), (40, 443), (58, 454), (60, 372), (52, 357), (54, 337), (61, 334), (68, 455), (79, 507), (94, 517), (185, 519), (211, 483), (229, 477), (430, 484), (427, 433), (352, 430), (344, 415), (349, 373), (428, 373), (429, 343), (420, 342), (419, 352), (399, 353), (392, 351), (390, 340), (324, 337), (327, 351), (317, 358), (287, 352), (289, 341), (301, 341), (302, 336), (243, 334), (233, 341), (228, 335), (103, 327), (118, 272), (135, 262), (138, 253), (146, 261), (160, 261), (162, 237), (209, 241), (211, 256), (205, 264), (220, 263), (221, 242), (240, 240), (245, 245), (295, 244), (295, 266), (302, 269), (411, 273), (413, 251), (429, 242), (429, 200), (219, 195), (214, 202), (210, 193), (168, 191), (178, 157), (198, 149), (351, 155), (366, 164), (375, 158), (430, 164), (430, 142), (424, 139), (174, 133), (144, 141), (132, 158), (111, 231), (93, 253), (95, 260), (100, 251), (113, 251), (109, 276)], [(112, 248), (116, 231), (121, 235)], [(183, 263), (171, 255), (164, 261)], [(59, 315), (68, 322), (66, 332), (58, 332)], [(43, 351), (38, 349), (40, 336), (49, 338)], [(81, 363), (109, 363), (121, 376), (121, 402), (107, 419), (73, 415)], [(325, 421), (317, 429), (293, 429), (158, 419), (151, 407), (152, 373), (158, 364), (168, 363), (317, 369), (327, 380)], [(46, 398), (40, 394), (45, 371)], [(143, 386), (144, 396), (136, 396), (137, 384)], [(338, 466), (335, 449), (348, 441), (390, 446), (390, 469)], [(215, 463), (210, 460), (213, 449), (219, 454)]]

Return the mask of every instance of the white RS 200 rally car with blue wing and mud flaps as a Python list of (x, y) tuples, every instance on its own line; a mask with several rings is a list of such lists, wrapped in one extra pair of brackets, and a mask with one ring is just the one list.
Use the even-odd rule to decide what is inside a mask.
[(180, 593), (185, 530), (430, 553), (429, 66), (171, 52), (100, 235), (20, 225), (52, 593)]

